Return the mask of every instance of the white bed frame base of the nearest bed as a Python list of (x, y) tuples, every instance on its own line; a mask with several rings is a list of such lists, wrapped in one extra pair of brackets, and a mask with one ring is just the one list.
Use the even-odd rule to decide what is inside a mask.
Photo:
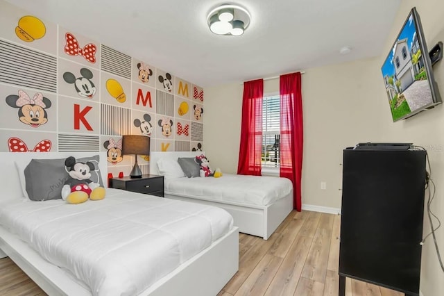
[[(6, 254), (48, 295), (91, 295), (66, 272), (0, 227), (0, 255)], [(3, 257), (2, 257), (3, 258)], [(216, 295), (239, 270), (239, 231), (234, 227), (210, 247), (180, 265), (140, 295)]]

